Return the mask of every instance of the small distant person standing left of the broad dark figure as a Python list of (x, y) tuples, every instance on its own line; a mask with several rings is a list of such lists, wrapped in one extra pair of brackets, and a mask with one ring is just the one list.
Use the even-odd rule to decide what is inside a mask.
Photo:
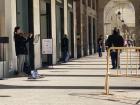
[(97, 44), (98, 44), (98, 54), (99, 54), (99, 57), (102, 57), (102, 50), (103, 50), (103, 36), (100, 35), (100, 37), (97, 39)]

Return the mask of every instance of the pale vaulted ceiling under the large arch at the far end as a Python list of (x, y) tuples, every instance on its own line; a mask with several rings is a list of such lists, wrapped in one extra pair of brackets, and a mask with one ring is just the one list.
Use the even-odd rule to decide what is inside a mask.
[(121, 20), (130, 26), (135, 26), (135, 9), (129, 0), (111, 0), (104, 9), (105, 22), (111, 21), (112, 16), (115, 16), (120, 11)]

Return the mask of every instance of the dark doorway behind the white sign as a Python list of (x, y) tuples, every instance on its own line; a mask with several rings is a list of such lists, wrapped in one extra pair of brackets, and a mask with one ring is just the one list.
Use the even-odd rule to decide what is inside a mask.
[[(42, 51), (42, 39), (51, 39), (51, 1), (40, 1), (40, 26), (41, 26), (41, 51)], [(52, 54), (42, 54), (42, 66), (52, 65)]]

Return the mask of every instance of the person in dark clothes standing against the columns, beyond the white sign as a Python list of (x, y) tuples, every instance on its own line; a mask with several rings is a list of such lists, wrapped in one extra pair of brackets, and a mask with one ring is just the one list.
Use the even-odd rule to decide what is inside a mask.
[(67, 38), (67, 35), (64, 35), (64, 38), (62, 39), (62, 60), (63, 62), (67, 62), (69, 59), (69, 39)]

